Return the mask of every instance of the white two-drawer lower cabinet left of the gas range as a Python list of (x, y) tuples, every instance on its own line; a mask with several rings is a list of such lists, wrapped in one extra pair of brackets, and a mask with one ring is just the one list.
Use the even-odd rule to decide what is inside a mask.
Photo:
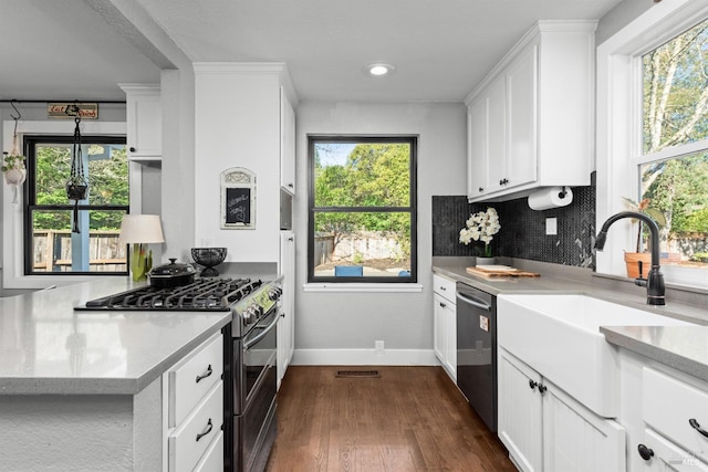
[(223, 470), (222, 346), (218, 333), (163, 375), (163, 470)]

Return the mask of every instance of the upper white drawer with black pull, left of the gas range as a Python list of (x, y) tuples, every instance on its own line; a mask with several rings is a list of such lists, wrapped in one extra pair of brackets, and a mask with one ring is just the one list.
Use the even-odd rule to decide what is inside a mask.
[(221, 381), (222, 373), (223, 337), (219, 333), (169, 370), (169, 428), (179, 424), (199, 399)]

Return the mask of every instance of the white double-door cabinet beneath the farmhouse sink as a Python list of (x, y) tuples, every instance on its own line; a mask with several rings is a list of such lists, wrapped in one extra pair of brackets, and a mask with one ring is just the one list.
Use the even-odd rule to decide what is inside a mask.
[(624, 471), (624, 428), (499, 348), (499, 439), (522, 471)]

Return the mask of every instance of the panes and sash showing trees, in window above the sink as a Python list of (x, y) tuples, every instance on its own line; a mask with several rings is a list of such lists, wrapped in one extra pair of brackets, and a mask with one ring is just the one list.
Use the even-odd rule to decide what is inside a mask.
[(708, 20), (641, 60), (638, 207), (659, 223), (663, 264), (708, 269)]

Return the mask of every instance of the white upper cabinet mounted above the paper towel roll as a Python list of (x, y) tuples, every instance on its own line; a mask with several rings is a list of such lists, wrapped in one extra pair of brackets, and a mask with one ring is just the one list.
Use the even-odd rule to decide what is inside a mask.
[(595, 27), (539, 22), (468, 95), (470, 202), (590, 185)]

